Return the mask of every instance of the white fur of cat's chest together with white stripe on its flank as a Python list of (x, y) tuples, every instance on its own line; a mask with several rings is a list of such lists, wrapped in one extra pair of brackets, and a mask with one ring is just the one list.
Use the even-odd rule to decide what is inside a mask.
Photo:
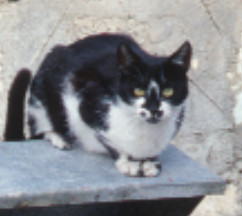
[[(68, 88), (69, 87), (69, 88)], [(91, 152), (105, 152), (104, 146), (97, 140), (97, 132), (90, 128), (82, 119), (78, 111), (81, 101), (67, 86), (63, 96), (68, 125), (82, 147)], [(169, 117), (156, 124), (151, 124), (141, 118), (137, 106), (130, 106), (122, 100), (110, 105), (108, 113), (107, 131), (101, 135), (107, 144), (124, 155), (137, 159), (154, 157), (161, 153), (170, 143), (176, 130), (176, 119), (181, 107), (170, 108)], [(99, 132), (98, 132), (99, 133)]]

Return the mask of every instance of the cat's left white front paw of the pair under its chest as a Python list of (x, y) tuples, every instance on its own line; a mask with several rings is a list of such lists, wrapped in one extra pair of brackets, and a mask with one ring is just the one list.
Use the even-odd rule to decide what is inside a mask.
[(119, 172), (128, 176), (139, 176), (140, 162), (129, 161), (126, 156), (121, 156), (115, 163)]

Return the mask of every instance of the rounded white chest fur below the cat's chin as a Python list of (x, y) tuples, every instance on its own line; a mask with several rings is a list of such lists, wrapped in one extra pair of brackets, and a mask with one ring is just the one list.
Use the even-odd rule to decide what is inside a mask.
[(119, 153), (137, 159), (154, 157), (169, 144), (176, 130), (177, 115), (178, 110), (174, 110), (170, 118), (150, 124), (137, 114), (135, 107), (119, 102), (111, 106), (109, 130), (102, 135)]

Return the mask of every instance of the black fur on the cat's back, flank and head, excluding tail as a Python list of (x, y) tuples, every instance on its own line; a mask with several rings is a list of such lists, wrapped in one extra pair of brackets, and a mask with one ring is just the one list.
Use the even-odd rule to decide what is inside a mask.
[[(189, 46), (189, 43), (185, 44), (184, 49)], [(105, 114), (109, 107), (102, 103), (103, 99), (115, 102), (116, 96), (120, 95), (125, 102), (132, 104), (133, 87), (146, 89), (151, 79), (162, 88), (178, 89), (169, 100), (174, 105), (180, 104), (188, 91), (185, 73), (189, 67), (189, 62), (185, 66), (179, 65), (180, 58), (182, 56), (177, 53), (171, 58), (151, 56), (124, 35), (90, 36), (67, 47), (57, 46), (47, 55), (33, 80), (31, 100), (34, 97), (42, 101), (55, 131), (71, 143), (73, 137), (67, 128), (61, 100), (67, 77), (70, 77), (76, 94), (82, 97), (80, 114), (83, 120), (95, 129), (106, 130)], [(32, 129), (36, 135), (34, 126)]]

